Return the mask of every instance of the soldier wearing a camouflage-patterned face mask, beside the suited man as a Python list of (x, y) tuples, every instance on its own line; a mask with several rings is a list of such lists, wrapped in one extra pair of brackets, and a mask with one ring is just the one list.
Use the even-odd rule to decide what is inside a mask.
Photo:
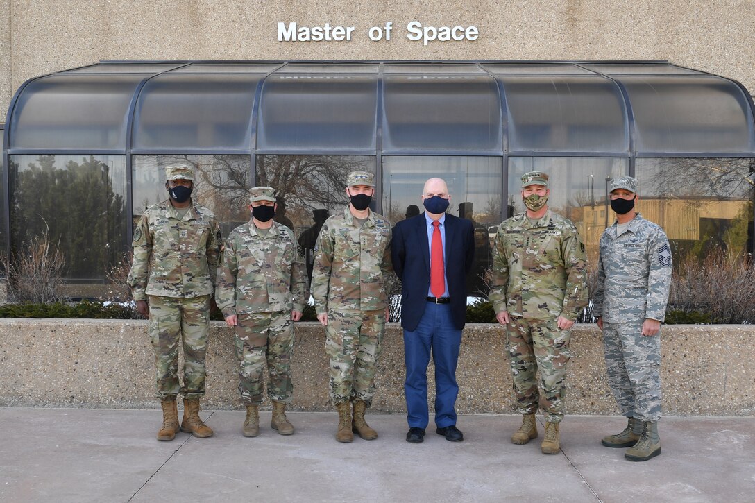
[(556, 454), (571, 356), (569, 329), (587, 304), (587, 261), (574, 224), (548, 208), (547, 187), (547, 174), (522, 176), (526, 212), (498, 227), (490, 301), (498, 322), (506, 326), (514, 394), (523, 415), (511, 442), (521, 445), (538, 437), (539, 401), (546, 418), (541, 451)]

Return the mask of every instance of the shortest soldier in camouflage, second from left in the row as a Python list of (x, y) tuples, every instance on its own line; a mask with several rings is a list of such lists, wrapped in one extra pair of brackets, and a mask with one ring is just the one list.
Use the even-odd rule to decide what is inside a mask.
[(251, 221), (236, 227), (226, 240), (215, 297), (228, 326), (236, 327), (239, 390), (246, 406), (242, 434), (259, 434), (258, 407), (267, 362), (267, 395), (273, 401), (270, 427), (291, 435), (294, 426), (285, 415), (294, 390), (289, 372), (294, 348), (291, 320), (298, 321), (304, 310), (307, 270), (294, 233), (273, 221), (275, 190), (254, 187), (249, 201)]

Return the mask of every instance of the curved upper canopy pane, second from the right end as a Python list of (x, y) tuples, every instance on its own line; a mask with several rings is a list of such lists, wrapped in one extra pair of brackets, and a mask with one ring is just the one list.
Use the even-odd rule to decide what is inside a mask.
[(627, 152), (624, 99), (599, 76), (501, 76), (509, 150)]

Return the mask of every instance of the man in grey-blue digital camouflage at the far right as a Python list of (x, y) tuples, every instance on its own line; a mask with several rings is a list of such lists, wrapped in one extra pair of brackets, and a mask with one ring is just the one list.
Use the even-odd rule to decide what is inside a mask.
[(616, 222), (600, 237), (598, 284), (593, 314), (603, 332), (609, 385), (621, 414), (619, 434), (606, 447), (630, 447), (624, 457), (646, 461), (661, 454), (661, 322), (671, 283), (666, 234), (634, 209), (637, 181), (611, 181)]

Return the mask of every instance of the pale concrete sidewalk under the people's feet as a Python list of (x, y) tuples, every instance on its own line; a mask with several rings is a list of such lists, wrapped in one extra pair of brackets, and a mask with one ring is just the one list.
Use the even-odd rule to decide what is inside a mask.
[[(462, 443), (402, 415), (368, 415), (380, 438), (337, 443), (337, 415), (291, 412), (291, 437), (240, 433), (241, 411), (202, 412), (215, 436), (155, 440), (157, 410), (0, 409), (0, 501), (753, 501), (753, 418), (664, 418), (643, 463), (600, 445), (624, 418), (568, 416), (562, 452), (509, 442), (519, 416), (464, 415)], [(542, 420), (540, 418), (540, 420)], [(542, 432), (542, 423), (539, 424)], [(542, 433), (541, 433), (542, 436)]]

